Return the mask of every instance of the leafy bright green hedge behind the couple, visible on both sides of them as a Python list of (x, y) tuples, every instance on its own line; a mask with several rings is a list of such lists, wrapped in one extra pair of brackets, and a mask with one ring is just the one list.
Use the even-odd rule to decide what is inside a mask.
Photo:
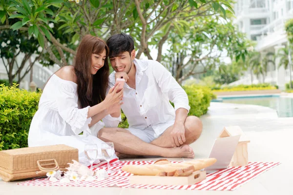
[[(206, 114), (210, 100), (216, 98), (211, 90), (196, 85), (184, 86), (184, 89), (189, 99), (188, 115)], [(40, 97), (41, 93), (21, 90), (16, 84), (9, 87), (0, 84), (0, 150), (27, 147), (30, 123), (38, 110)], [(123, 113), (119, 127), (128, 127)]]

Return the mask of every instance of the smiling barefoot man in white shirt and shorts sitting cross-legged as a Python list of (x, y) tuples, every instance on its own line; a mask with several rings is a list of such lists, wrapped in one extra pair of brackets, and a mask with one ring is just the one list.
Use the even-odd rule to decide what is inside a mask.
[[(129, 128), (117, 128), (121, 109), (103, 119), (105, 128), (98, 137), (114, 142), (116, 155), (194, 157), (188, 144), (202, 132), (198, 117), (189, 116), (188, 96), (170, 72), (155, 60), (135, 59), (134, 41), (126, 34), (107, 40), (109, 59), (114, 72), (109, 76), (110, 87), (116, 78), (124, 78), (121, 109)], [(174, 108), (169, 100), (174, 103)]]

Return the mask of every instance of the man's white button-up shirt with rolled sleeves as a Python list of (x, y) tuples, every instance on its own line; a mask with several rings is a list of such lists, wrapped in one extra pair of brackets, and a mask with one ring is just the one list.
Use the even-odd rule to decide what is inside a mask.
[[(136, 67), (135, 88), (124, 84), (124, 96), (121, 109), (127, 117), (129, 127), (145, 129), (152, 127), (161, 135), (175, 120), (178, 108), (188, 110), (188, 96), (184, 89), (172, 77), (171, 73), (158, 61), (133, 60)], [(109, 85), (115, 84), (115, 71), (109, 76)], [(169, 100), (174, 103), (174, 108)], [(121, 117), (110, 115), (103, 119), (106, 127), (117, 127)]]

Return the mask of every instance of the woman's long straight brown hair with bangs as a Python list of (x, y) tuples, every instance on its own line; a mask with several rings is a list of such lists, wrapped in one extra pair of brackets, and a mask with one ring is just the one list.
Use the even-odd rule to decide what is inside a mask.
[[(92, 54), (101, 54), (106, 50), (105, 64), (95, 75), (91, 74)], [(80, 108), (94, 106), (102, 102), (106, 97), (108, 86), (109, 48), (104, 40), (86, 35), (77, 48), (74, 62), (74, 71), (77, 77), (77, 94)]]

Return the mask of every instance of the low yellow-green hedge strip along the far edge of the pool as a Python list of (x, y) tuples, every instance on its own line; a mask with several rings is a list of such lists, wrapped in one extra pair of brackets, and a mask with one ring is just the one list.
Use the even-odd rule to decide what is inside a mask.
[(252, 84), (252, 85), (237, 85), (225, 87), (211, 87), (212, 92), (229, 92), (229, 91), (254, 91), (254, 90), (272, 90), (278, 89), (277, 86), (272, 86), (269, 83)]

